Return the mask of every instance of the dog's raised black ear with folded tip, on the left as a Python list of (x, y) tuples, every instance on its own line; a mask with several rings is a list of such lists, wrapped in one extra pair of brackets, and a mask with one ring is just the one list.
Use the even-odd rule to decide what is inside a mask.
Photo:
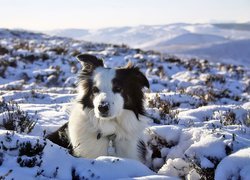
[(98, 59), (96, 56), (90, 54), (80, 54), (76, 58), (81, 63), (82, 70), (86, 73), (92, 72), (97, 67), (103, 67), (103, 61)]

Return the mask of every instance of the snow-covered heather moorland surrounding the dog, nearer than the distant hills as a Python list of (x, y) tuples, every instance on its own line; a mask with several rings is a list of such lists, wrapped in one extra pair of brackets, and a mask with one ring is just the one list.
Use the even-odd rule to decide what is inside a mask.
[[(176, 33), (192, 29), (183, 26)], [(79, 53), (97, 55), (108, 67), (132, 61), (146, 74), (145, 104), (152, 117), (146, 165), (117, 157), (76, 158), (44, 138), (68, 120)], [(0, 179), (250, 177), (247, 66), (1, 29), (0, 96)]]

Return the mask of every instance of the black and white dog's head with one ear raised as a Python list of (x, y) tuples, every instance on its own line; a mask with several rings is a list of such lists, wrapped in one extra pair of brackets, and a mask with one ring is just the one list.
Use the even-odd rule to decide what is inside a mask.
[(149, 88), (149, 82), (137, 67), (105, 68), (101, 59), (88, 54), (77, 59), (82, 64), (79, 91), (83, 108), (94, 109), (97, 118), (107, 120), (124, 109), (133, 111), (137, 118), (144, 114), (142, 89)]

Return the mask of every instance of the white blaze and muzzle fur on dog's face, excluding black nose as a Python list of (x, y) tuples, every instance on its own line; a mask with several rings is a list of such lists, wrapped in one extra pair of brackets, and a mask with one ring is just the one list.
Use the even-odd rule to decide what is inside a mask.
[[(113, 119), (120, 115), (124, 100), (120, 93), (114, 93), (112, 91), (112, 80), (115, 78), (114, 69), (97, 68), (93, 74), (93, 87), (96, 86), (99, 92), (94, 94), (94, 112), (97, 118)], [(108, 104), (109, 110), (107, 117), (102, 117), (98, 107), (102, 104)]]

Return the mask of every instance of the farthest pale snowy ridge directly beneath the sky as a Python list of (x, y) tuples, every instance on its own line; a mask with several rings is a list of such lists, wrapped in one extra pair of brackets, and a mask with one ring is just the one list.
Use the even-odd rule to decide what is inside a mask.
[[(71, 37), (80, 40), (127, 44), (131, 47), (147, 47), (147, 44), (159, 44), (161, 41), (166, 42), (167, 40), (185, 34), (189, 36), (194, 35), (194, 38), (197, 38), (198, 34), (200, 34), (221, 36), (221, 38), (232, 40), (246, 39), (250, 37), (250, 31), (247, 31), (248, 26), (249, 24), (176, 23), (168, 25), (110, 27), (97, 30), (61, 29), (47, 31), (45, 33), (50, 35)], [(187, 36), (185, 38), (187, 38)], [(208, 40), (210, 41), (210, 39)], [(182, 41), (185, 41), (185, 39)]]

